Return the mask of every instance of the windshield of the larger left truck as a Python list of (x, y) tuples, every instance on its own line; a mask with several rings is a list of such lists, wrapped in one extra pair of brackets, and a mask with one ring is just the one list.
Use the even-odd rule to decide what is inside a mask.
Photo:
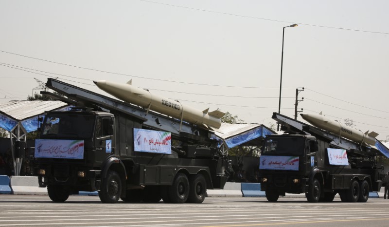
[(94, 116), (82, 114), (48, 114), (43, 122), (41, 138), (90, 138)]

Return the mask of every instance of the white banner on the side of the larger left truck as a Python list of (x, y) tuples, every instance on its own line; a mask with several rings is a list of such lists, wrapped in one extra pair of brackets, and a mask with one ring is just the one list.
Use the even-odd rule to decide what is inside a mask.
[(134, 129), (134, 151), (171, 154), (171, 133)]

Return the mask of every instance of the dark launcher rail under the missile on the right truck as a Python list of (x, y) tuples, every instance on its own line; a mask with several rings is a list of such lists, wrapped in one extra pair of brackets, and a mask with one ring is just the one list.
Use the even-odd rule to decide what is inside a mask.
[(358, 144), (354, 141), (333, 135), (332, 133), (321, 130), (315, 126), (305, 124), (283, 114), (273, 113), (272, 118), (276, 120), (281, 129), (287, 133), (300, 133), (306, 135), (314, 135), (327, 140), (334, 147), (355, 152), (363, 156), (383, 155), (389, 158), (389, 149), (386, 148), (379, 140), (376, 140), (375, 146), (366, 144)]

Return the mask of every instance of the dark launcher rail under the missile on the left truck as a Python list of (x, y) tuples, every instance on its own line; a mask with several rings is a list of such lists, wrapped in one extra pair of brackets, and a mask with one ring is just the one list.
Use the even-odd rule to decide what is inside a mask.
[(67, 98), (49, 92), (41, 92), (42, 95), (50, 96), (72, 105), (84, 106), (95, 110), (105, 109), (109, 112), (127, 114), (137, 118), (147, 127), (171, 132), (172, 136), (205, 142), (206, 138), (210, 138), (213, 133), (204, 128), (195, 127), (187, 122), (182, 122), (182, 125), (180, 126), (181, 122), (179, 119), (152, 111), (147, 112), (146, 109), (138, 106), (127, 104), (123, 101), (97, 94), (53, 78), (48, 78), (46, 87), (61, 95), (65, 95)]

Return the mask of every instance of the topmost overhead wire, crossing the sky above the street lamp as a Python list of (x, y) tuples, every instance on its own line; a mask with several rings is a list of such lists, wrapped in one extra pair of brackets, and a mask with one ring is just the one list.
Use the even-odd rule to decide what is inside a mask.
[(282, 22), (282, 23), (291, 23), (291, 24), (292, 23), (297, 23), (299, 25), (301, 24), (301, 25), (314, 26), (314, 27), (320, 27), (320, 28), (332, 28), (332, 29), (348, 30), (348, 31), (354, 31), (354, 32), (367, 32), (367, 33), (376, 33), (376, 34), (384, 34), (384, 35), (388, 35), (389, 34), (388, 32), (365, 31), (365, 30), (357, 30), (357, 29), (350, 29), (350, 28), (340, 28), (340, 27), (331, 27), (331, 26), (307, 24), (307, 23), (291, 22), (291, 21), (276, 20), (276, 19), (259, 18), (259, 17), (252, 17), (252, 16), (224, 13), (224, 12), (218, 12), (218, 11), (212, 11), (212, 10), (197, 9), (197, 8), (187, 7), (187, 6), (172, 5), (172, 4), (156, 2), (156, 1), (149, 1), (149, 0), (141, 0), (141, 1), (146, 1), (146, 2), (150, 2), (150, 3), (161, 4), (161, 5), (168, 5), (168, 6), (178, 7), (178, 8), (198, 10), (198, 11), (203, 11), (203, 12), (208, 12), (208, 13), (217, 13), (217, 14), (224, 14), (224, 15), (235, 16), (235, 17), (242, 17), (242, 18), (262, 19), (262, 20), (269, 20), (269, 21)]

